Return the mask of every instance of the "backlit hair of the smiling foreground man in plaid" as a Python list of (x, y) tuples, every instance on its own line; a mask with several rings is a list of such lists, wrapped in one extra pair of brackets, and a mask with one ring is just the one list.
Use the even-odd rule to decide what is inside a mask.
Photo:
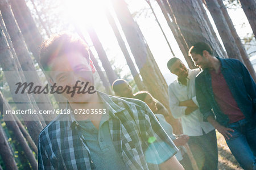
[(80, 52), (89, 61), (88, 45), (79, 37), (61, 33), (43, 42), (40, 49), (40, 64), (45, 71), (50, 71), (49, 64), (52, 59), (69, 52)]

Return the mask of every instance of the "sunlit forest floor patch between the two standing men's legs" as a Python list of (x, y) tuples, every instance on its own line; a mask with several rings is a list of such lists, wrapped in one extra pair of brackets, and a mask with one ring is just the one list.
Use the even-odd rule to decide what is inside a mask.
[(228, 145), (226, 145), (223, 135), (216, 131), (218, 143), (218, 169), (221, 170), (242, 170), (237, 160), (231, 154)]

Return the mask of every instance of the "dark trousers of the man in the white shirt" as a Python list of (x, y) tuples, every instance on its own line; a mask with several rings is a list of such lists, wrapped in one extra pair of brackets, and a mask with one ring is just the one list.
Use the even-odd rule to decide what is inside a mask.
[(189, 137), (188, 145), (199, 169), (218, 169), (218, 147), (215, 130), (198, 137)]

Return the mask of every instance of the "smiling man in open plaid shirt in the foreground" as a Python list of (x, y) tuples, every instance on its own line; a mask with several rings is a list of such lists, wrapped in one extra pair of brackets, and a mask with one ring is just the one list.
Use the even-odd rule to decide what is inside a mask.
[[(95, 69), (81, 39), (57, 35), (43, 43), (40, 57), (49, 82), (76, 93), (62, 93), (70, 114), (57, 116), (39, 135), (39, 169), (183, 169), (145, 103), (93, 91)], [(89, 87), (86, 94), (77, 83)]]

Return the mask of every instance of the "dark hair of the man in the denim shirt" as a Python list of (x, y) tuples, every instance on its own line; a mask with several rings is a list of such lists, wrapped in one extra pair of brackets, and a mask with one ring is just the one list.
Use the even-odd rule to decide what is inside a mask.
[(189, 49), (188, 56), (191, 56), (191, 53), (200, 54), (203, 56), (203, 50), (206, 50), (210, 55), (213, 55), (213, 50), (210, 45), (205, 42), (197, 42)]

